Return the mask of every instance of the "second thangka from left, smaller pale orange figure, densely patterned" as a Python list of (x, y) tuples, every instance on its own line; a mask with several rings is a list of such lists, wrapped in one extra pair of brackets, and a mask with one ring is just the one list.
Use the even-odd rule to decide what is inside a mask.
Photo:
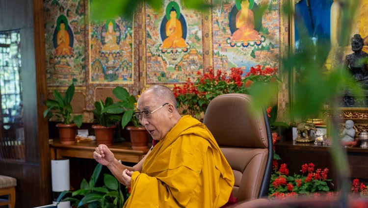
[(133, 78), (132, 20), (91, 22), (89, 82), (131, 84)]

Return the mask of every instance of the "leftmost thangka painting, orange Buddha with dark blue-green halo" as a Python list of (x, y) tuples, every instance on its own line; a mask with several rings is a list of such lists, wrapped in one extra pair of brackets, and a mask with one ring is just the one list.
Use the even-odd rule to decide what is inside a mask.
[(45, 0), (48, 86), (85, 83), (84, 0)]

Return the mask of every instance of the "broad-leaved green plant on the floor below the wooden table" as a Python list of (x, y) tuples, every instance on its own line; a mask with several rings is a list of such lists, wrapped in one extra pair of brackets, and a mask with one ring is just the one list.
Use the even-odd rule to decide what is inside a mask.
[(120, 189), (120, 182), (110, 174), (104, 174), (104, 184), (97, 186), (96, 182), (100, 176), (102, 165), (95, 167), (89, 182), (83, 179), (80, 189), (76, 191), (66, 190), (60, 193), (56, 202), (70, 201), (73, 207), (93, 208), (120, 208), (124, 205), (124, 195)]

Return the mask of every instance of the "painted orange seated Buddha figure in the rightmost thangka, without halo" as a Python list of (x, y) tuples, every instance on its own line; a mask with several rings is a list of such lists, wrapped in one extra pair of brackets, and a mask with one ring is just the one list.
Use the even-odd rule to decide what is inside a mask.
[(241, 0), (241, 9), (237, 12), (237, 30), (233, 33), (232, 42), (247, 42), (261, 40), (258, 31), (254, 29), (254, 14), (249, 9), (249, 0)]

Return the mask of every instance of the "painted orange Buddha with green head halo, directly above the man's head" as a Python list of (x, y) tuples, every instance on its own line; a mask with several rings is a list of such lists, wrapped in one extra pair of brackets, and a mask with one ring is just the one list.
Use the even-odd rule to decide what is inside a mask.
[[(160, 46), (160, 49), (162, 52), (165, 52), (167, 49), (182, 49), (182, 51), (187, 51), (188, 44), (185, 43), (184, 37), (183, 37), (183, 26), (181, 21), (179, 21), (179, 17), (181, 17), (180, 12), (177, 10), (179, 9), (179, 5), (176, 5), (174, 7), (175, 1), (172, 1), (169, 3), (167, 7), (171, 9), (168, 11), (168, 8), (166, 8), (167, 13), (169, 15), (166, 15), (167, 23), (165, 25), (165, 30), (161, 28), (161, 33), (164, 32), (163, 42)], [(176, 50), (175, 50), (176, 51)]]

